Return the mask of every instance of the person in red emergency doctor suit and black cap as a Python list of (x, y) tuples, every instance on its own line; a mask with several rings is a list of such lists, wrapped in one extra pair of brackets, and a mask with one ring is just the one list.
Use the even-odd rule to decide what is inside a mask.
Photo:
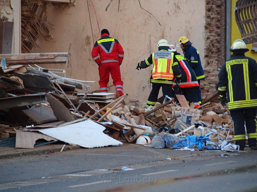
[(101, 31), (101, 39), (94, 44), (91, 55), (99, 66), (100, 92), (107, 93), (107, 84), (111, 73), (116, 91), (122, 96), (123, 82), (121, 80), (120, 65), (123, 61), (124, 51), (118, 40), (109, 35), (110, 33), (107, 29)]

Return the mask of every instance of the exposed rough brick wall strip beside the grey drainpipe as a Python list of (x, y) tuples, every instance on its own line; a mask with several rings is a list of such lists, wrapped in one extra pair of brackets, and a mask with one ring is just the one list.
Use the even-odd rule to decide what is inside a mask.
[(202, 98), (217, 89), (219, 68), (225, 60), (226, 1), (205, 0), (205, 76), (201, 82)]

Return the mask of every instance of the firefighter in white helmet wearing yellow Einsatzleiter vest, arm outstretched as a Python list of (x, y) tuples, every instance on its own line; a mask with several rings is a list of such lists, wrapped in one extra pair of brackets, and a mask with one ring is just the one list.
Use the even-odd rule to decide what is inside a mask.
[(168, 41), (165, 39), (159, 40), (157, 47), (159, 51), (152, 53), (150, 57), (139, 62), (136, 68), (139, 70), (153, 64), (152, 75), (150, 78), (152, 90), (148, 97), (146, 107), (155, 105), (160, 88), (162, 88), (163, 98), (165, 98), (165, 95), (171, 97), (173, 79), (174, 77), (177, 77), (177, 80), (180, 80), (181, 77), (178, 61), (174, 53), (168, 51)]

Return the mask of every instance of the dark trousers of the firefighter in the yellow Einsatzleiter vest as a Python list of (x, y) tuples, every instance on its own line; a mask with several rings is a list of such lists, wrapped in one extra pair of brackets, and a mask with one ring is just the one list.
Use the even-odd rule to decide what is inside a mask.
[[(155, 103), (158, 100), (158, 94), (159, 94), (160, 88), (162, 89), (163, 99), (165, 99), (165, 95), (168, 95), (169, 97), (171, 97), (172, 85), (152, 83), (152, 90), (147, 99), (147, 105), (146, 105), (147, 107), (149, 107), (150, 105), (152, 106), (155, 105)], [(168, 100), (169, 99), (167, 99), (167, 101)]]

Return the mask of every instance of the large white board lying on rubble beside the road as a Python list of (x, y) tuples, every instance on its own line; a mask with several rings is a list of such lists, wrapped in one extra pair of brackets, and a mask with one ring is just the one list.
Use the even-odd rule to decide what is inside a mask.
[(46, 129), (27, 129), (26, 131), (39, 131), (57, 140), (79, 145), (85, 148), (118, 146), (120, 141), (104, 134), (105, 127), (89, 119), (61, 127)]

